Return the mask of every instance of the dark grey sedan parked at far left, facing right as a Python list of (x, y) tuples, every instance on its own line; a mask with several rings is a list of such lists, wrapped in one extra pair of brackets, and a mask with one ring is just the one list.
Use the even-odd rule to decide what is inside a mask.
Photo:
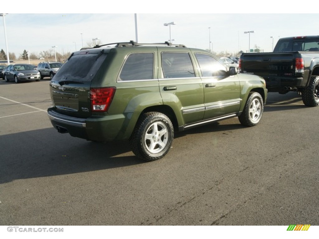
[(15, 83), (19, 83), (20, 81), (30, 81), (30, 80), (39, 81), (40, 78), (41, 78), (40, 72), (33, 69), (33, 66), (29, 64), (9, 65), (4, 70), (5, 82), (9, 82), (10, 80), (14, 80)]

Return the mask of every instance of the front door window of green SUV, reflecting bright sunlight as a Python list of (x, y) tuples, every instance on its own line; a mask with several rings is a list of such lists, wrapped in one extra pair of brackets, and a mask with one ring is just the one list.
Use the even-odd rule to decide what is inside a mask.
[(203, 77), (225, 76), (226, 68), (210, 55), (195, 53)]

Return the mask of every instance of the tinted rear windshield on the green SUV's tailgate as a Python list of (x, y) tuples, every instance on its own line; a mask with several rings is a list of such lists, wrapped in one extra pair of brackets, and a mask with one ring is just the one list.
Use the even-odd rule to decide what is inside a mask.
[(54, 76), (55, 80), (91, 82), (107, 54), (73, 55)]

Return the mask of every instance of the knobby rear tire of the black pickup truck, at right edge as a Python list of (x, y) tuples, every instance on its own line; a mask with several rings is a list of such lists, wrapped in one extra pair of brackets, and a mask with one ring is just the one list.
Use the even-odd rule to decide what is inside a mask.
[(301, 98), (307, 106), (319, 105), (319, 76), (311, 76), (309, 85), (301, 93)]

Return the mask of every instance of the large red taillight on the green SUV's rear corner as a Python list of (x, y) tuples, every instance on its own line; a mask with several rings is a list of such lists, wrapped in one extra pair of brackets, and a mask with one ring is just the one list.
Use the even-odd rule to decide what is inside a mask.
[(92, 105), (92, 112), (106, 112), (111, 105), (115, 87), (106, 88), (91, 88), (90, 98)]

